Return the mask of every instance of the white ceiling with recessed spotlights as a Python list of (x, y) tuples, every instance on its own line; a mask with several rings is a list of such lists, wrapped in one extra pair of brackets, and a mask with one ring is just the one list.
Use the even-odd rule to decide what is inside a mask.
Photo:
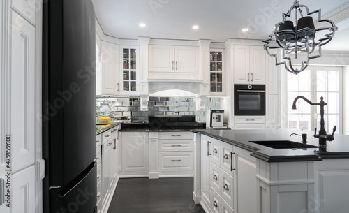
[[(290, 0), (92, 0), (104, 33), (115, 38), (138, 36), (163, 39), (211, 39), (222, 43), (228, 38), (264, 40), (281, 22)], [(322, 16), (349, 3), (349, 0), (304, 0), (309, 10), (321, 8)], [(323, 50), (349, 51), (348, 17), (339, 25), (333, 40)], [(147, 27), (139, 27), (140, 22)], [(191, 27), (198, 24), (199, 29)], [(243, 34), (241, 29), (250, 31)]]

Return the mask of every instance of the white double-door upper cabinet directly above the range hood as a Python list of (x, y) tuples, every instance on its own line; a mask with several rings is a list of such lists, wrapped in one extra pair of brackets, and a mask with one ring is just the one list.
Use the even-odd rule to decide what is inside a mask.
[(149, 45), (149, 78), (200, 79), (200, 47)]

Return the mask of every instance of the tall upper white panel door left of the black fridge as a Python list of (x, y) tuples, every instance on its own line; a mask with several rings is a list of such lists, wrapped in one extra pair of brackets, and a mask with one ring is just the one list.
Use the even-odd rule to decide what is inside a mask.
[(12, 169), (17, 171), (35, 161), (35, 28), (10, 11), (15, 22), (10, 46)]

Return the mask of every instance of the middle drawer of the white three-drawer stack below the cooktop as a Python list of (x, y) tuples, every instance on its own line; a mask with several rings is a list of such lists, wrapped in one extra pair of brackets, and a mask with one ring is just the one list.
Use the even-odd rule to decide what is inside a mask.
[(158, 140), (158, 152), (193, 151), (193, 140)]

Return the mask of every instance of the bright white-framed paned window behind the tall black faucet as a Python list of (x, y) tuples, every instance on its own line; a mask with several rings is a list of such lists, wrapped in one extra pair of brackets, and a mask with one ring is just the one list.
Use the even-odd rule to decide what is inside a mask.
[(342, 72), (341, 67), (309, 66), (298, 75), (288, 73), (288, 128), (319, 130), (320, 107), (299, 99), (297, 110), (292, 110), (292, 103), (297, 96), (304, 96), (311, 102), (318, 103), (322, 96), (327, 103), (324, 115), (326, 131), (332, 133), (332, 128), (337, 126), (337, 133), (341, 133)]

